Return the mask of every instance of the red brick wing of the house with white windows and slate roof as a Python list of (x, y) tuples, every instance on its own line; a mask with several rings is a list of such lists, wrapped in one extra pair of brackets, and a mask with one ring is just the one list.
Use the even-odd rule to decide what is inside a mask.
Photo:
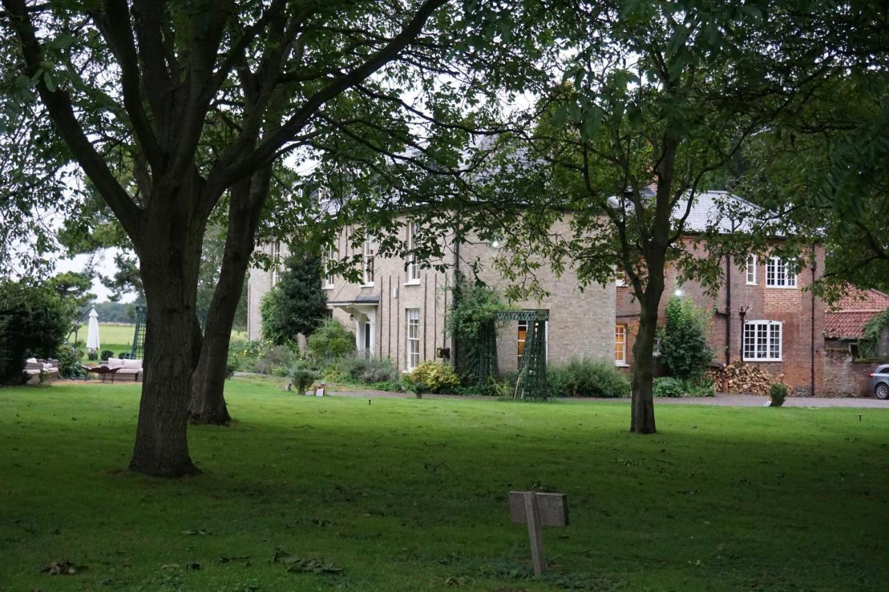
[[(689, 232), (712, 225), (713, 216), (721, 212), (717, 202), (726, 198), (736, 199), (720, 191), (701, 194), (686, 221)], [(721, 229), (731, 231), (727, 221), (725, 226), (717, 221)], [(685, 238), (687, 248), (696, 248), (698, 257), (706, 257), (706, 244), (693, 247), (692, 242), (690, 234)], [(798, 394), (817, 395), (823, 380), (824, 305), (805, 288), (822, 273), (823, 250), (817, 250), (813, 268), (796, 269), (789, 261), (757, 255), (750, 255), (740, 266), (732, 258), (720, 263), (726, 281), (715, 296), (706, 294), (699, 284), (680, 284), (677, 270), (668, 270), (659, 310), (661, 324), (671, 296), (691, 299), (713, 312), (708, 340), (714, 364), (736, 360), (756, 364), (776, 377), (783, 374)], [(615, 363), (629, 368), (639, 306), (628, 285), (619, 283), (616, 292)]]

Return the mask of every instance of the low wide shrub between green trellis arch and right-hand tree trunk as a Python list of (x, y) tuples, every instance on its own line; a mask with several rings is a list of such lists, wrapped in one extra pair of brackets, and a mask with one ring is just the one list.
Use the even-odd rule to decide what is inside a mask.
[(628, 396), (629, 379), (610, 360), (574, 358), (547, 369), (550, 396)]

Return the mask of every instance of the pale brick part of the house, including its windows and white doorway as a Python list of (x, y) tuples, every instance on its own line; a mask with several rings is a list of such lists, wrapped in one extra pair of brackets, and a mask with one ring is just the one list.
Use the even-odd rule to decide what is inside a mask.
[[(415, 223), (400, 220), (398, 238), (409, 246), (417, 228)], [(565, 225), (567, 231), (567, 225)], [(355, 332), (356, 349), (367, 356), (388, 357), (401, 372), (410, 372), (426, 360), (451, 363), (461, 346), (449, 334), (445, 320), (453, 307), (453, 287), (457, 276), (473, 277), (470, 262), (479, 260), (483, 268), (478, 277), (494, 289), (504, 289), (508, 282), (493, 269), (499, 245), (496, 241), (475, 240), (456, 244), (443, 237), (442, 252), (448, 260), (429, 261), (429, 265), (445, 264), (445, 271), (421, 266), (418, 261), (383, 257), (378, 254), (379, 241), (368, 236), (364, 244), (349, 244), (350, 228), (340, 233), (331, 245), (328, 257), (340, 260), (358, 255), (363, 260), (363, 282), (349, 283), (340, 276), (326, 276), (323, 289), (333, 318)], [(284, 245), (266, 245), (269, 255), (286, 256)], [(539, 279), (550, 295), (540, 302), (526, 300), (513, 303), (517, 308), (546, 309), (547, 358), (550, 364), (568, 362), (572, 357), (592, 356), (610, 359), (613, 356), (613, 285), (578, 287), (577, 276), (569, 268), (556, 276), (548, 267), (541, 268)], [(276, 283), (274, 270), (251, 273), (247, 298), (247, 332), (250, 339), (260, 336), (260, 300)], [(515, 372), (525, 347), (527, 324), (512, 321), (497, 330), (498, 369)]]

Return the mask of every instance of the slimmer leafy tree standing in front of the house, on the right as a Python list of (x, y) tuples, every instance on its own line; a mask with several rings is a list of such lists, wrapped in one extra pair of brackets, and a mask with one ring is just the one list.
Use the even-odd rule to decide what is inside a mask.
[[(697, 196), (723, 188), (718, 178), (741, 148), (802, 108), (844, 60), (825, 51), (826, 21), (806, 20), (805, 2), (554, 3), (553, 10), (562, 16), (553, 37), (562, 41), (563, 67), (559, 77), (541, 78), (533, 132), (509, 142), (527, 163), (516, 169), (541, 179), (527, 187), (546, 198), (526, 194), (525, 228), (514, 229), (507, 246), (536, 249), (557, 269), (570, 261), (581, 283), (627, 278), (641, 310), (630, 429), (653, 433), (666, 272), (675, 267), (713, 287), (724, 277), (722, 255), (763, 248), (762, 233), (716, 227), (707, 255), (686, 248)], [(536, 212), (554, 209), (570, 213), (571, 232), (541, 230), (553, 215)], [(756, 212), (732, 213), (740, 226)], [(508, 273), (523, 271), (516, 259), (506, 263)]]

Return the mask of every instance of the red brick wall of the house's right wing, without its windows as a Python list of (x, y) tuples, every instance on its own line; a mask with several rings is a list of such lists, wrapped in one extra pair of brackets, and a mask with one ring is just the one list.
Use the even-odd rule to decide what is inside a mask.
[[(698, 257), (707, 257), (706, 245), (693, 247), (691, 240), (686, 240), (688, 248)], [(723, 263), (725, 269), (725, 262)], [(815, 277), (820, 277), (824, 268), (824, 252), (817, 253)], [(724, 271), (725, 273), (725, 271)], [(816, 298), (814, 316), (812, 315), (812, 293), (805, 287), (812, 284), (813, 270), (801, 269), (797, 273), (796, 288), (773, 288), (765, 286), (765, 260), (757, 260), (757, 284), (747, 285), (746, 267), (739, 269), (737, 261), (732, 261), (729, 273), (732, 288), (732, 305), (728, 312), (726, 326), (726, 283), (724, 282), (715, 296), (704, 293), (700, 284), (677, 281), (677, 270), (669, 269), (665, 278), (665, 288), (659, 309), (659, 323), (664, 323), (664, 310), (667, 302), (680, 289), (683, 298), (690, 298), (704, 310), (713, 312), (709, 327), (709, 344), (714, 351), (714, 361), (720, 364), (726, 361), (726, 339), (728, 340), (729, 361), (741, 359), (741, 308), (747, 308), (744, 317), (747, 321), (768, 320), (781, 321), (781, 362), (749, 362), (761, 366), (774, 376), (784, 374), (784, 380), (798, 394), (809, 394), (812, 383), (812, 328), (814, 324), (814, 373), (815, 391), (821, 388), (824, 364), (821, 356), (824, 352), (824, 304)], [(617, 288), (616, 322), (628, 324), (628, 359), (632, 364), (631, 349), (633, 338), (637, 333), (638, 302), (633, 299), (632, 288), (628, 285)]]

